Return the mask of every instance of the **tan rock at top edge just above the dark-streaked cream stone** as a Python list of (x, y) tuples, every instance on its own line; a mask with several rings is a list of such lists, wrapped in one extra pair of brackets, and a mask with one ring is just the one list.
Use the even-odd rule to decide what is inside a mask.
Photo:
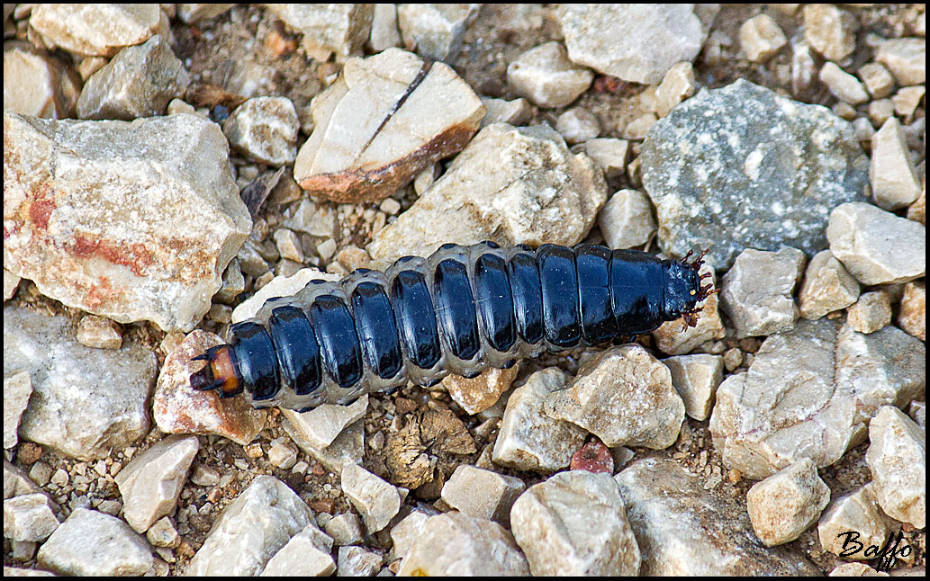
[(337, 62), (361, 54), (374, 14), (371, 4), (271, 4), (267, 9), (302, 33), (301, 46), (307, 56), (320, 62), (333, 53)]

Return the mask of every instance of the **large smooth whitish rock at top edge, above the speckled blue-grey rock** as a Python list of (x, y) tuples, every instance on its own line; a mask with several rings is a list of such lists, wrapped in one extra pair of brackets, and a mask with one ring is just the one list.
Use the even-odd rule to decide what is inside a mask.
[(673, 65), (697, 57), (710, 28), (701, 16), (713, 19), (690, 5), (567, 4), (556, 12), (569, 59), (644, 85), (658, 84)]

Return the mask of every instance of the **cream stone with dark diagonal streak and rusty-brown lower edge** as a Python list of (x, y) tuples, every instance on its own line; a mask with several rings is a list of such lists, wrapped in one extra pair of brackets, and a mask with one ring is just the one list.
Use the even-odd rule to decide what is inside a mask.
[(294, 165), (300, 187), (336, 202), (379, 201), (465, 147), (485, 106), (444, 63), (423, 71), (400, 48), (349, 59), (312, 100), (313, 133)]

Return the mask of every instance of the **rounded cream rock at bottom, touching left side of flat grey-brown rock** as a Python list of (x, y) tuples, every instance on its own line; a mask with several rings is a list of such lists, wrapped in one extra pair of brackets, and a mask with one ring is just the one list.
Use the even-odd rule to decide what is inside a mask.
[(640, 549), (609, 474), (560, 472), (511, 511), (513, 537), (536, 576), (636, 575)]

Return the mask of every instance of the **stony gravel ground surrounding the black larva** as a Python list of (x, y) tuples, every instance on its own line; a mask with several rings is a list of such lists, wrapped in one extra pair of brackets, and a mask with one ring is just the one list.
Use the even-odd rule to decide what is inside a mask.
[[(882, 568), (846, 529), (923, 574), (923, 5), (39, 6), (4, 5), (5, 575)], [(722, 292), (326, 415), (185, 386), (259, 289), (485, 239), (712, 244)]]

